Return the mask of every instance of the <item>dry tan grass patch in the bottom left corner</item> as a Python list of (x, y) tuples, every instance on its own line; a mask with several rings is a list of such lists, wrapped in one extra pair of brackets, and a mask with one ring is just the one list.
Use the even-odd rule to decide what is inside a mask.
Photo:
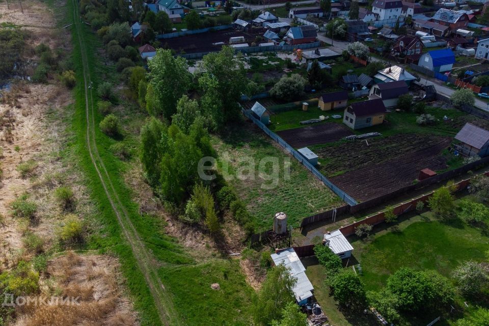
[(122, 295), (119, 268), (115, 258), (73, 252), (50, 261), (43, 294), (79, 297), (79, 305), (25, 305), (14, 325), (138, 325), (137, 314)]

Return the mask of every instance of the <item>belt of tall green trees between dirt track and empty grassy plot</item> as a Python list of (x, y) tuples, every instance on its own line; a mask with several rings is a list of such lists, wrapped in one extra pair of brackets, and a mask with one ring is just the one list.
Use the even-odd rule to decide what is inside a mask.
[(229, 212), (253, 232), (246, 207), (219, 173), (207, 171), (214, 178), (204, 180), (198, 171), (202, 158), (207, 157), (208, 165), (217, 157), (209, 130), (225, 132), (241, 120), (238, 100), (248, 83), (240, 57), (224, 47), (205, 56), (191, 74), (185, 59), (160, 49), (148, 65), (149, 74), (133, 70), (129, 83), (152, 117), (141, 130), (141, 161), (148, 183), (185, 223), (201, 223), (218, 234)]

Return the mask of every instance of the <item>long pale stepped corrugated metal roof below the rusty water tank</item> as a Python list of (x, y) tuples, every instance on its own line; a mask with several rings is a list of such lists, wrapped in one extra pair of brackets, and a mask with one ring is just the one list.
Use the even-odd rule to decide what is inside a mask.
[(307, 278), (306, 273), (304, 273), (306, 268), (293, 248), (284, 249), (277, 254), (271, 254), (270, 257), (276, 266), (283, 264), (287, 267), (290, 275), (296, 279), (292, 291), (294, 292), (295, 300), (297, 300), (297, 302), (301, 302), (312, 296), (314, 287)]

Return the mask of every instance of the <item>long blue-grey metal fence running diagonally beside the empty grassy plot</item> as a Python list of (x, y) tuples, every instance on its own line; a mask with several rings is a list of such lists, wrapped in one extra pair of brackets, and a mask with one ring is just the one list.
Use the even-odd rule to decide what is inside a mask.
[(334, 185), (330, 180), (324, 177), (312, 164), (310, 164), (304, 156), (302, 156), (299, 152), (293, 149), (289, 144), (287, 144), (282, 138), (280, 138), (275, 132), (268, 129), (260, 120), (256, 119), (251, 110), (243, 110), (243, 114), (248, 117), (251, 121), (253, 121), (260, 129), (262, 129), (267, 135), (270, 136), (277, 144), (282, 146), (285, 150), (287, 150), (295, 159), (297, 159), (302, 165), (306, 167), (312, 174), (321, 180), (327, 187), (329, 187), (336, 195), (338, 195), (343, 201), (345, 201), (349, 205), (356, 205), (357, 201), (353, 199), (351, 196), (346, 194), (336, 185)]

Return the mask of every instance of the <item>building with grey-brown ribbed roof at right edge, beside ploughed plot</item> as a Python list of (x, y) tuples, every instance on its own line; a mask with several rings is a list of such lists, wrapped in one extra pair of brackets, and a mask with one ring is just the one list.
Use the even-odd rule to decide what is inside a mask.
[(489, 155), (489, 131), (477, 127), (471, 123), (458, 131), (455, 139), (460, 144), (455, 144), (455, 150), (466, 156), (485, 157)]

